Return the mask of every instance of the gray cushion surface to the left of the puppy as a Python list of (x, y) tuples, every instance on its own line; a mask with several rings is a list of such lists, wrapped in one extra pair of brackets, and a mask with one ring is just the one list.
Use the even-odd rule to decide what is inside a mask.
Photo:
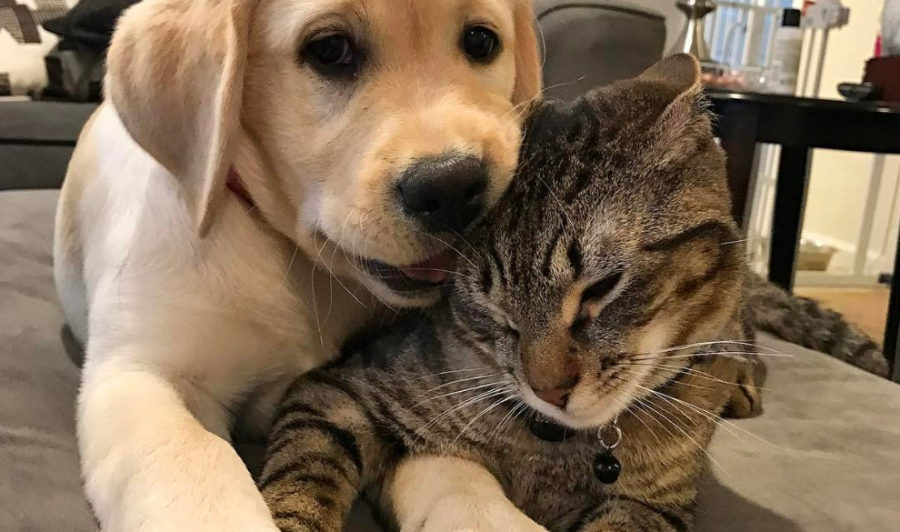
[(87, 532), (75, 442), (78, 369), (53, 285), (56, 193), (0, 192), (0, 530)]

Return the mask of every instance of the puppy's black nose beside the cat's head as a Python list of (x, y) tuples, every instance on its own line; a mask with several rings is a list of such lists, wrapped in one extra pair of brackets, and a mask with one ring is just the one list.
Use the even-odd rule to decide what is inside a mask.
[(437, 156), (406, 168), (397, 193), (428, 232), (462, 232), (485, 206), (487, 168), (473, 156)]

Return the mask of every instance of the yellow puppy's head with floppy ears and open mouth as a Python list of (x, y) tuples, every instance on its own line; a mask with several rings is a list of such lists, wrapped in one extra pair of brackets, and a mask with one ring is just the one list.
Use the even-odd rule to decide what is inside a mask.
[(235, 168), (266, 221), (337, 276), (432, 301), (491, 206), (540, 92), (528, 0), (145, 0), (106, 92), (202, 233)]

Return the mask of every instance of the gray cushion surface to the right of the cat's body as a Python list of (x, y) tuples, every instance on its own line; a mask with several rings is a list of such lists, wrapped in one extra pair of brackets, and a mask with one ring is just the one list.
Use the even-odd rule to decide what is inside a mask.
[(699, 529), (900, 530), (900, 386), (764, 337), (765, 413), (726, 423), (711, 455)]

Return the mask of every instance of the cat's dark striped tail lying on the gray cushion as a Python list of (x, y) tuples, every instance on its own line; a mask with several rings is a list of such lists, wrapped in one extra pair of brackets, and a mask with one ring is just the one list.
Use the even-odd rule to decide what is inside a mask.
[(792, 296), (755, 274), (749, 286), (746, 316), (755, 329), (887, 376), (881, 348), (839, 312), (808, 297)]

